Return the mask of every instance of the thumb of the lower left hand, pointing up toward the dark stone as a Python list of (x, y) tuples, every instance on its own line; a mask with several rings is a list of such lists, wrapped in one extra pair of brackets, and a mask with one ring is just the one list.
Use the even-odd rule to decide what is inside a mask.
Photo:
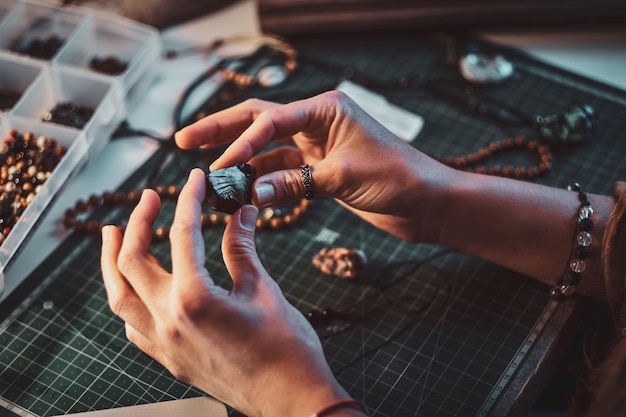
[(258, 280), (267, 275), (256, 252), (254, 235), (259, 210), (245, 205), (230, 218), (222, 239), (222, 256), (233, 280), (233, 292), (252, 293)]

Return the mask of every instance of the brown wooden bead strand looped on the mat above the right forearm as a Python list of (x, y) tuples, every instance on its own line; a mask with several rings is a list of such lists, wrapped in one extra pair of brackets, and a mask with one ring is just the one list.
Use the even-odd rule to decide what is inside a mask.
[[(507, 165), (501, 167), (499, 165), (478, 165), (485, 159), (512, 149), (527, 149), (539, 156), (539, 164), (531, 167), (514, 167)], [(515, 138), (504, 138), (498, 142), (492, 142), (488, 146), (479, 149), (477, 152), (470, 153), (466, 156), (444, 157), (440, 161), (450, 167), (463, 171), (473, 170), (479, 174), (496, 175), (501, 177), (515, 179), (533, 179), (547, 173), (552, 167), (553, 154), (550, 147), (541, 144), (536, 140), (528, 139), (523, 136)], [(472, 169), (472, 167), (474, 167)]]

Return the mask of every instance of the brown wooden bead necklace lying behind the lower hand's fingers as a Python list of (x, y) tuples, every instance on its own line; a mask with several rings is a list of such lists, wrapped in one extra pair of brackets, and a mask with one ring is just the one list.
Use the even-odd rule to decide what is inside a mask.
[[(157, 186), (156, 193), (162, 199), (176, 200), (180, 194), (180, 187), (177, 185), (169, 186)], [(99, 223), (95, 220), (83, 221), (77, 217), (81, 214), (93, 211), (100, 207), (123, 207), (129, 205), (135, 205), (139, 202), (141, 197), (141, 191), (130, 191), (128, 193), (118, 191), (115, 193), (105, 192), (102, 195), (92, 195), (87, 201), (78, 200), (73, 208), (65, 211), (63, 216), (63, 225), (67, 229), (74, 229), (76, 232), (84, 233), (88, 235), (99, 234), (102, 227), (108, 223)], [(302, 216), (309, 206), (310, 200), (302, 199), (291, 210), (285, 209), (287, 212), (283, 213), (283, 209), (278, 208), (266, 208), (259, 212), (259, 217), (256, 221), (257, 230), (279, 230), (293, 226), (300, 216)], [(202, 228), (207, 229), (209, 227), (224, 226), (230, 220), (230, 214), (222, 214), (219, 212), (202, 213)], [(126, 226), (119, 226), (122, 232)], [(152, 231), (152, 238), (154, 241), (163, 241), (169, 237), (169, 227), (158, 226)]]

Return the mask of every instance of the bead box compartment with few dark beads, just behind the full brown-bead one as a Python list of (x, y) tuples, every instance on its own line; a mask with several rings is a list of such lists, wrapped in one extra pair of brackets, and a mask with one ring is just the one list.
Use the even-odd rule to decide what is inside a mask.
[(46, 67), (11, 111), (35, 121), (85, 133), (90, 153), (98, 153), (124, 117), (119, 86), (76, 68)]

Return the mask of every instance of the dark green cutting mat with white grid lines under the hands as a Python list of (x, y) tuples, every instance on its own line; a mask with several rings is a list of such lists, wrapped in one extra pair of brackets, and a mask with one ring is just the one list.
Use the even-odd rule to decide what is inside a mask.
[[(409, 73), (437, 73), (463, 90), (446, 64), (446, 42), (424, 36), (342, 35), (294, 39), (298, 71), (279, 88), (249, 96), (287, 101), (337, 85), (349, 68), (371, 88)], [(516, 77), (482, 93), (529, 114), (564, 111), (572, 102), (592, 105), (600, 129), (580, 145), (554, 148), (554, 168), (539, 182), (563, 187), (580, 182), (610, 193), (626, 178), (622, 92), (558, 71), (515, 51)], [(443, 77), (445, 75), (446, 77)], [(380, 90), (420, 114), (414, 145), (428, 154), (465, 154), (527, 126), (496, 123), (424, 88)], [(228, 92), (232, 95), (232, 92)], [(181, 183), (205, 154), (177, 153), (153, 185)], [(509, 157), (510, 163), (526, 155)], [(525, 162), (524, 162), (525, 163)], [(145, 177), (145, 167), (129, 181)], [(385, 173), (381, 172), (381, 175)], [(173, 206), (165, 205), (163, 219)], [(96, 213), (123, 221), (127, 212)], [(221, 230), (205, 233), (207, 266), (228, 286), (221, 261)], [(175, 381), (130, 345), (122, 322), (109, 311), (99, 271), (99, 242), (71, 236), (27, 285), (26, 298), (0, 327), (0, 405), (21, 415), (51, 416), (127, 404), (202, 395)], [(303, 313), (332, 308), (352, 314), (318, 328), (340, 382), (373, 416), (487, 416), (507, 392), (558, 307), (548, 288), (488, 262), (434, 245), (390, 237), (341, 208), (317, 199), (295, 227), (257, 234), (261, 260), (286, 297)], [(369, 259), (357, 282), (329, 278), (311, 265), (323, 247), (354, 247)], [(154, 254), (170, 262), (167, 244)], [(231, 411), (234, 414), (234, 412)]]

